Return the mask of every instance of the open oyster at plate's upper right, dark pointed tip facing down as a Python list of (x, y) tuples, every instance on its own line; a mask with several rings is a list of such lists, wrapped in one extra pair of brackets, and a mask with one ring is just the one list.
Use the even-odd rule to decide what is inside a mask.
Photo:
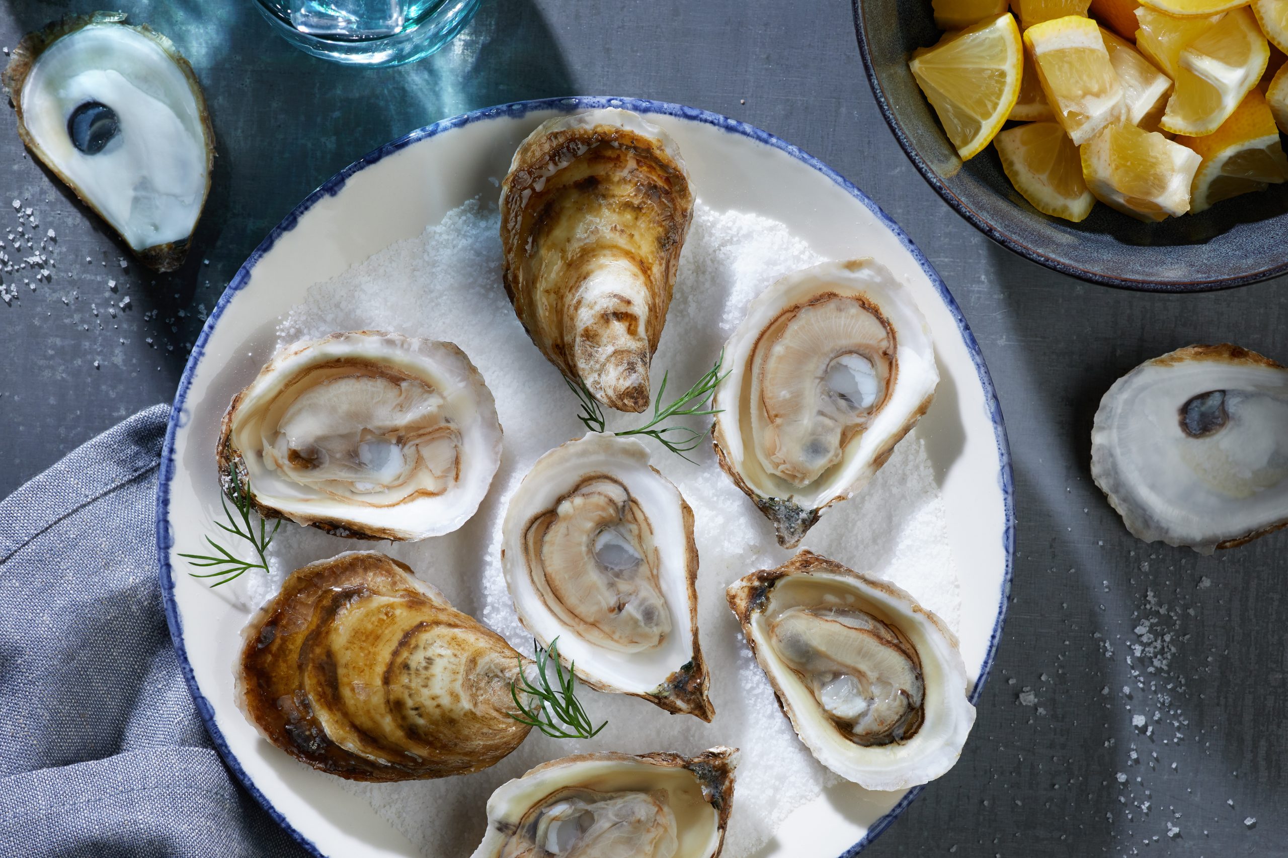
[(871, 259), (779, 279), (747, 307), (725, 355), (716, 457), (784, 548), (867, 485), (939, 383), (925, 318)]

